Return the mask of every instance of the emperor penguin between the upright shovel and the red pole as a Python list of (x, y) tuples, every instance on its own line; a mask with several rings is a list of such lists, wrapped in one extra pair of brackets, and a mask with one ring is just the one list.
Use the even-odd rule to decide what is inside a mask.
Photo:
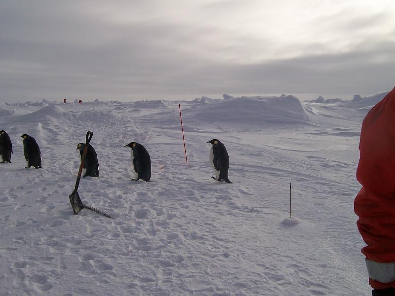
[(136, 142), (131, 142), (123, 147), (132, 148), (132, 161), (134, 168), (134, 179), (131, 181), (138, 181), (142, 179), (146, 182), (151, 179), (151, 158), (147, 149), (143, 145)]

